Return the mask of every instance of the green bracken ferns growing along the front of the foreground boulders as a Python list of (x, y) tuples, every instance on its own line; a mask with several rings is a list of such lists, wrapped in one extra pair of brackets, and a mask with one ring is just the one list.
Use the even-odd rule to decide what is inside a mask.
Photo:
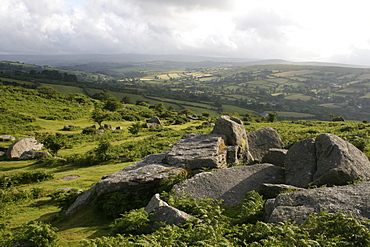
[[(131, 210), (111, 225), (115, 237), (84, 240), (81, 246), (369, 246), (370, 231), (344, 212), (313, 214), (302, 225), (259, 221), (263, 199), (248, 193), (244, 203), (224, 209), (221, 201), (162, 193), (167, 202), (194, 218), (181, 225), (158, 225), (143, 208)], [(232, 211), (232, 212), (231, 212)]]

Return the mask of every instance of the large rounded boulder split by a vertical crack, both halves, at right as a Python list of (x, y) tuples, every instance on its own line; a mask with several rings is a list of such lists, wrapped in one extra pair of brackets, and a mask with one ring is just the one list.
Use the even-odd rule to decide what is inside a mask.
[(370, 179), (369, 159), (351, 143), (331, 134), (294, 144), (285, 157), (286, 183), (307, 188), (313, 185), (345, 185)]

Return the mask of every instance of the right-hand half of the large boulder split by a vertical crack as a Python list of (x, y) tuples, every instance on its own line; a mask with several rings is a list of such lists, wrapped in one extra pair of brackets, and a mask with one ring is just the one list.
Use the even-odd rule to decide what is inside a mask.
[(350, 181), (370, 180), (370, 161), (358, 148), (338, 136), (322, 134), (316, 138), (317, 171), (313, 184), (345, 185)]

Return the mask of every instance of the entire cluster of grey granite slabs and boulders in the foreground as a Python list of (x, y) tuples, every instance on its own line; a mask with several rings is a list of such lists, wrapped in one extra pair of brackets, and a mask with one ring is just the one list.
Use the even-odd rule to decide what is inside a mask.
[[(272, 164), (246, 165), (266, 161)], [(244, 165), (230, 167), (234, 163)], [(216, 170), (201, 172), (202, 168)], [(360, 219), (370, 217), (370, 182), (304, 189), (310, 184), (338, 186), (357, 179), (370, 180), (370, 162), (355, 146), (338, 136), (322, 134), (286, 150), (274, 129), (264, 128), (247, 135), (243, 123), (231, 116), (220, 117), (209, 135), (187, 134), (168, 151), (149, 155), (103, 176), (77, 198), (66, 214), (90, 203), (95, 196), (108, 193), (154, 195), (160, 181), (182, 173), (195, 175), (173, 187), (177, 195), (223, 200), (226, 206), (241, 204), (252, 190), (265, 198), (276, 197), (265, 205), (268, 222), (302, 223), (310, 213), (318, 213), (322, 208), (328, 212), (348, 211)], [(297, 191), (279, 194), (289, 189)], [(158, 195), (145, 210), (154, 214), (155, 221), (167, 224), (184, 223), (191, 217), (168, 206)]]

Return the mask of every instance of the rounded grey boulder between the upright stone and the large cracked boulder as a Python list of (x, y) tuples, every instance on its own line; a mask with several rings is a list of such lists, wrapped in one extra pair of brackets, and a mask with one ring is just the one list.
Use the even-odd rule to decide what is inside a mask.
[(271, 148), (283, 148), (279, 134), (271, 127), (266, 127), (247, 135), (249, 152), (254, 162), (262, 162)]

